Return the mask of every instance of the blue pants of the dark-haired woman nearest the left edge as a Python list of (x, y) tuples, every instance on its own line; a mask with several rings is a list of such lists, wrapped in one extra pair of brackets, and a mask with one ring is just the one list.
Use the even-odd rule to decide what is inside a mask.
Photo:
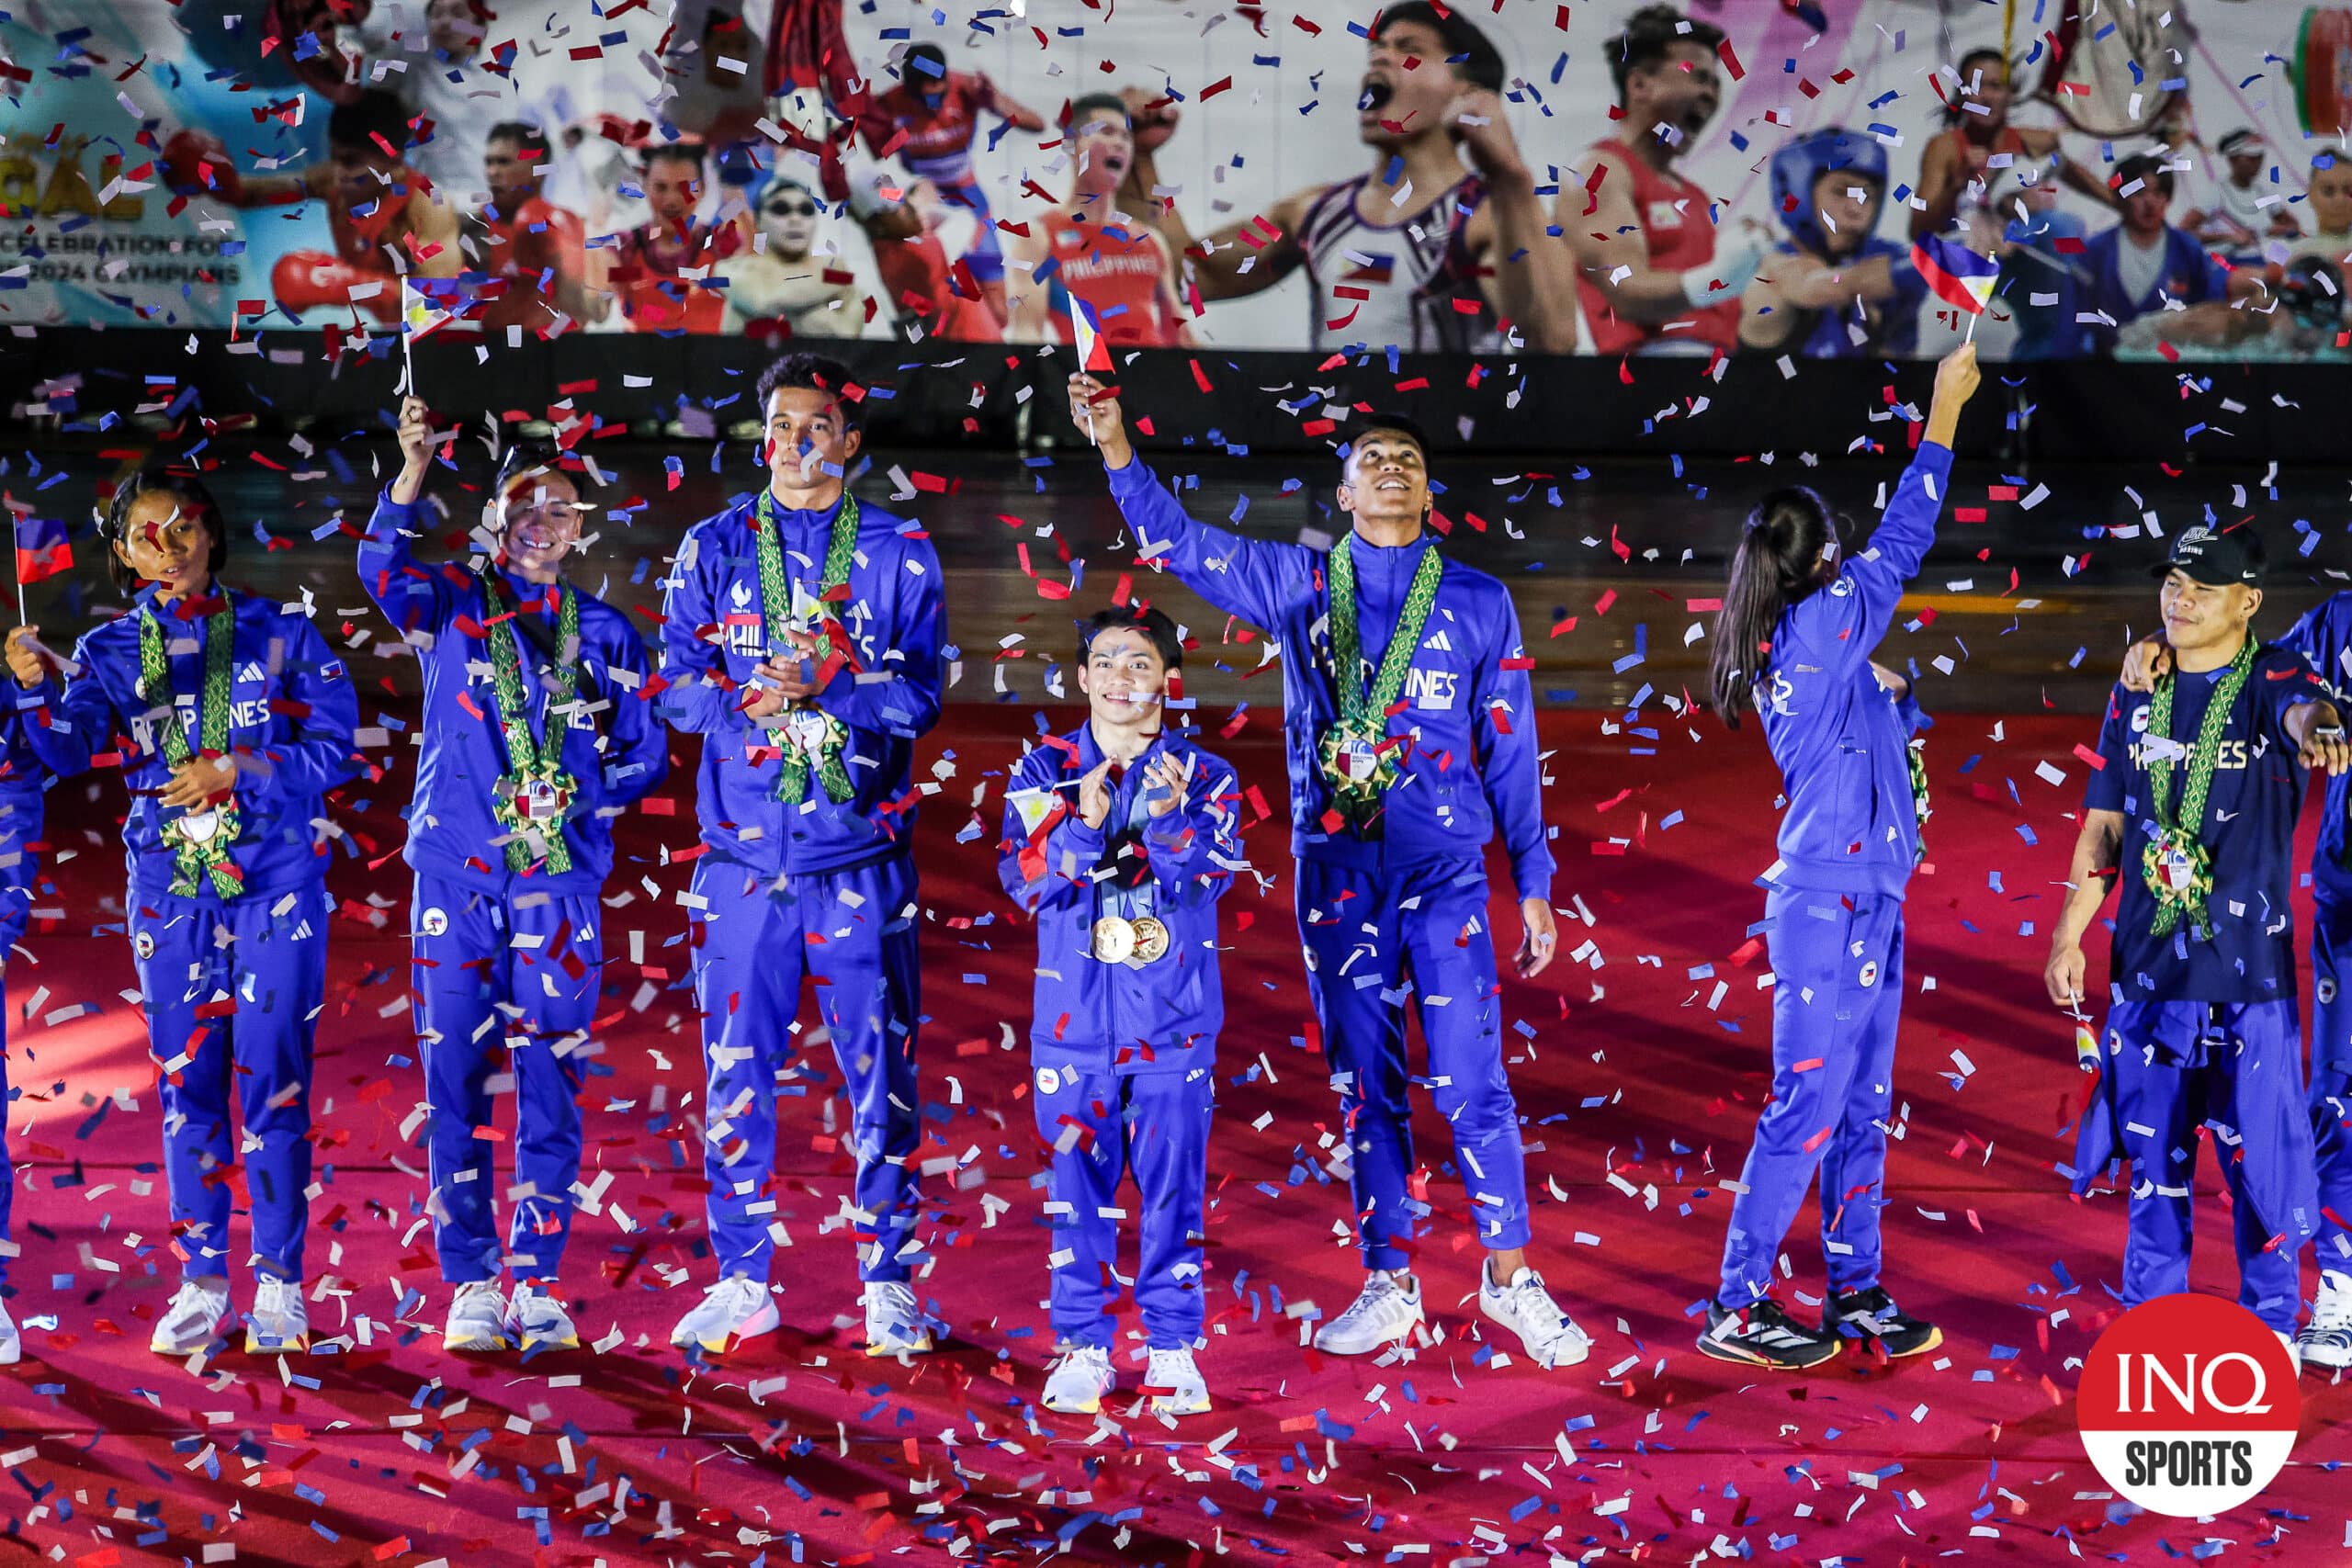
[(327, 994), (322, 884), (289, 893), (141, 898), (132, 954), (148, 1053), (162, 1070), (162, 1145), (181, 1274), (228, 1272), (230, 1185), (245, 1187), (259, 1267), (301, 1279), (310, 1187), (310, 1032)]

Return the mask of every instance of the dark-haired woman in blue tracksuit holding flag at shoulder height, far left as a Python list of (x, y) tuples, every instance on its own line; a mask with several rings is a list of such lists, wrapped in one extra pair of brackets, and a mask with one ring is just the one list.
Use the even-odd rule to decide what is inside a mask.
[[(38, 628), (9, 637), (9, 670), (38, 693), (26, 738), (42, 766), (68, 776), (120, 752), (132, 795), (132, 952), (162, 1072), (183, 1276), (153, 1347), (202, 1349), (226, 1316), (228, 1215), (242, 1192), (259, 1267), (247, 1349), (301, 1349), (310, 1032), (334, 907), (325, 795), (362, 766), (350, 748), (360, 708), (308, 616), (216, 581), (228, 538), (200, 482), (125, 482), (106, 538), (132, 611), (82, 637), (66, 682), (31, 644)], [(174, 729), (153, 717), (165, 703)]]

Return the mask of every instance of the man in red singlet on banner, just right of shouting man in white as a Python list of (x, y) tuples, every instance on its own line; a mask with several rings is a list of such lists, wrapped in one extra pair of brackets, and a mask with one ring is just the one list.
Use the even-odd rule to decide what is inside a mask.
[[(1576, 296), (1592, 350), (1717, 353), (1740, 341), (1740, 289), (1764, 259), (1759, 235), (1717, 244), (1717, 209), (1675, 174), (1675, 158), (1715, 118), (1715, 24), (1644, 5), (1609, 42), (1625, 136), (1595, 143), (1562, 179), (1552, 219), (1576, 252)], [(1672, 127), (1672, 134), (1661, 134)]]

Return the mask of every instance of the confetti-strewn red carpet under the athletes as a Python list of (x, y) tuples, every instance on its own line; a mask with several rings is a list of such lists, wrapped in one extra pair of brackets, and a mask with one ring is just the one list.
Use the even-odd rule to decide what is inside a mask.
[[(1665, 715), (1661, 715), (1665, 717)], [(1056, 722), (1068, 715), (1056, 715)], [(1604, 729), (1606, 724), (1606, 729)], [(2305, 1380), (2298, 1465), (2213, 1526), (2133, 1519), (2074, 1436), (2072, 1361), (2114, 1312), (2122, 1208), (2077, 1206), (2051, 1173), (2079, 1081), (2070, 1025), (2042, 1001), (2091, 724), (1952, 717), (1931, 745), (1931, 872), (1912, 884), (1912, 994), (1891, 1159), (1889, 1284), (1945, 1326), (1940, 1352), (1804, 1380), (1750, 1378), (1691, 1349), (1726, 1197), (1769, 1081), (1762, 914), (1776, 776), (1750, 726), (1623, 731), (1548, 712), (1550, 820), (1564, 959), (1505, 980), (1524, 1046), (1536, 1260), (1595, 1333), (1592, 1361), (1510, 1363), (1461, 1302), (1477, 1253), (1442, 1124), (1423, 1117), (1439, 1222), (1421, 1262), (1442, 1342), (1367, 1366), (1301, 1347), (1301, 1302), (1352, 1293), (1345, 1185), (1327, 1180), (1334, 1105), (1305, 1034), (1289, 912), (1279, 755), (1261, 715), (1225, 750), (1275, 809), (1247, 842), (1272, 891), (1228, 903), (1209, 1218), (1216, 1413), (1176, 1427), (1127, 1401), (1101, 1422), (1023, 1420), (1049, 1331), (1037, 1140), (1021, 1046), (1033, 936), (990, 865), (1002, 773), (1030, 710), (950, 708), (917, 778), (927, 907), (924, 1157), (938, 1267), (917, 1281), (953, 1324), (946, 1354), (901, 1368), (849, 1342), (851, 1246), (833, 1105), (786, 1100), (790, 1192), (779, 1258), (788, 1328), (691, 1375), (663, 1342), (706, 1284), (701, 1063), (663, 846), (694, 842), (691, 773), (673, 816), (633, 818), (607, 952), (609, 1077), (595, 1079), (590, 1166), (602, 1213), (574, 1232), (569, 1288), (600, 1352), (532, 1366), (437, 1352), (447, 1298), (430, 1265), (421, 1098), (405, 1006), (407, 877), (395, 778), (339, 813), (360, 851), (336, 867), (346, 919), (320, 1023), (313, 1204), (320, 1333), (339, 1356), (228, 1354), (200, 1375), (146, 1352), (174, 1269), (160, 1124), (113, 849), (118, 783), (68, 783), (52, 806), (56, 893), (33, 959), (9, 973), (9, 1140), (26, 1361), (9, 1394), (0, 1561), (103, 1568), (238, 1563), (656, 1561), (1388, 1561), (1698, 1556), (1896, 1563), (1943, 1556), (2204, 1556), (2279, 1561), (2340, 1549), (2326, 1474), (2352, 1392)], [(934, 757), (948, 769), (934, 773)], [(2037, 776), (2049, 762), (2063, 785)], [(103, 809), (92, 806), (96, 795)], [(976, 813), (974, 797), (981, 795)], [(2307, 837), (2307, 835), (2305, 835)], [(659, 893), (649, 891), (659, 889)], [(1498, 922), (1508, 910), (1498, 903)], [(1247, 926), (1244, 926), (1247, 922)], [(628, 931), (642, 931), (642, 950)], [(1515, 933), (1515, 924), (1501, 926)], [(642, 966), (628, 961), (642, 954)], [(2103, 971), (2103, 957), (2098, 959)], [(2100, 980), (2103, 983), (2103, 980)], [(1924, 987), (1924, 990), (1922, 990)], [(31, 1018), (26, 1018), (31, 1011)], [(1249, 1081), (1232, 1081), (1251, 1074)], [(833, 1086), (830, 1063), (826, 1086)], [(122, 1098), (115, 1098), (122, 1095)], [(134, 1103), (136, 1107), (129, 1107)], [(1423, 1107), (1425, 1110), (1425, 1107)], [(595, 1182), (590, 1171), (586, 1180)], [(2234, 1293), (2220, 1199), (2206, 1199), (2199, 1288)], [(242, 1220), (240, 1220), (242, 1225)], [(1820, 1281), (1813, 1215), (1792, 1237), (1792, 1293)], [(240, 1302), (245, 1281), (238, 1281)], [(421, 1298), (416, 1295), (421, 1293)], [(360, 1324), (367, 1331), (360, 1333)], [(1508, 1347), (1517, 1352), (1517, 1345)], [(1124, 1368), (1122, 1368), (1124, 1371)], [(1129, 1385), (1134, 1375), (1129, 1373)]]

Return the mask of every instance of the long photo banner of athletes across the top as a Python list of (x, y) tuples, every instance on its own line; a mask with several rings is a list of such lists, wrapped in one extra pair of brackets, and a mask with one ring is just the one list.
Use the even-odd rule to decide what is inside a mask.
[(2333, 360), (2347, 85), (2300, 0), (49, 5), (0, 322)]

